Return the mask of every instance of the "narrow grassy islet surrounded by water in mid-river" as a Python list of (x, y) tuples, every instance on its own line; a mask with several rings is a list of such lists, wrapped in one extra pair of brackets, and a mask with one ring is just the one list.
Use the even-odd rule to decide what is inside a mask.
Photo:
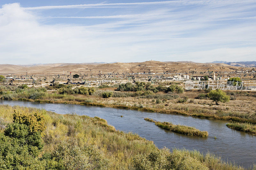
[(190, 136), (199, 136), (199, 137), (207, 137), (208, 132), (207, 131), (200, 131), (199, 129), (196, 129), (194, 127), (184, 126), (184, 125), (174, 125), (170, 122), (159, 122), (155, 121), (153, 119), (145, 118), (144, 120), (147, 120), (149, 122), (154, 122), (156, 126), (159, 126), (160, 128), (170, 130), (172, 132), (176, 132), (183, 135), (190, 135)]

